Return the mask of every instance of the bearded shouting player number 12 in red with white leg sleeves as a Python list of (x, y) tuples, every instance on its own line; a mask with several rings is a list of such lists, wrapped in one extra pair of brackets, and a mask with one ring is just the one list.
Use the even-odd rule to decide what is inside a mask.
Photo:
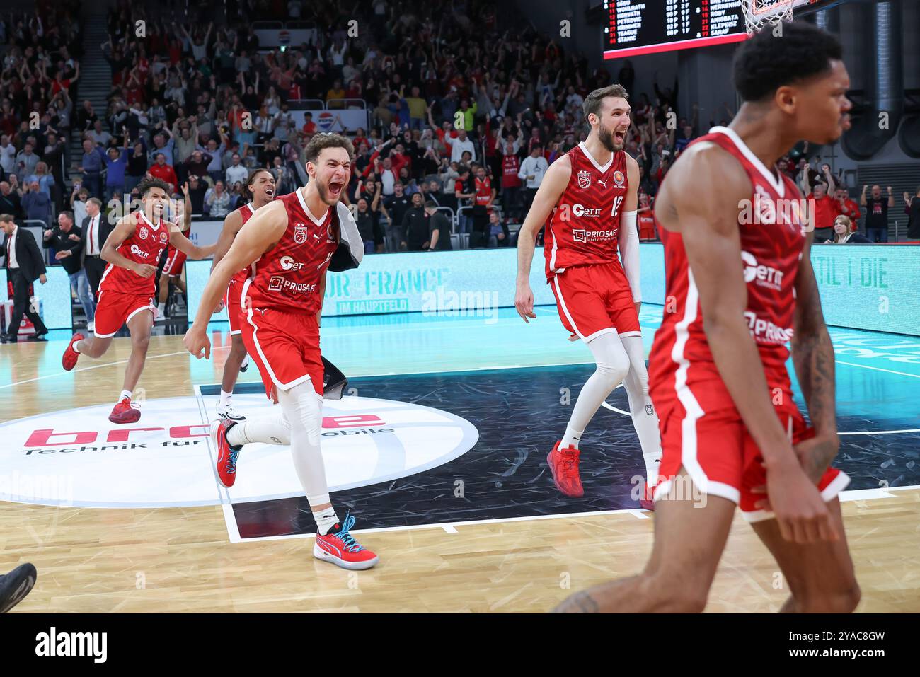
[[(658, 481), (661, 442), (649, 397), (645, 350), (638, 326), (638, 163), (623, 150), (629, 129), (627, 92), (619, 85), (595, 89), (584, 101), (591, 123), (587, 141), (558, 158), (537, 189), (518, 235), (514, 305), (527, 322), (534, 314), (530, 267), (536, 234), (546, 224), (546, 281), (556, 295), (559, 318), (591, 349), (597, 370), (581, 388), (565, 435), (546, 457), (556, 487), (582, 496), (579, 442), (598, 408), (623, 383), (646, 467), (639, 500), (651, 508)], [(617, 244), (623, 258), (616, 258)]]

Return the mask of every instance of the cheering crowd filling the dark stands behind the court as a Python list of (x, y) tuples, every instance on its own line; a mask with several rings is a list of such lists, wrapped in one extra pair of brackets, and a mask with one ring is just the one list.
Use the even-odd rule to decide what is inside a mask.
[[(361, 214), (369, 251), (449, 247), (449, 237), (431, 247), (431, 216), (419, 214), (434, 212), (456, 214), (447, 233), (469, 234), (471, 247), (509, 246), (546, 168), (586, 138), (584, 98), (614, 82), (631, 91), (636, 81), (629, 61), (616, 78), (606, 68), (590, 71), (583, 55), (530, 28), (512, 4), (487, 0), (227, 0), (220, 13), (206, 3), (182, 11), (130, 0), (110, 8), (109, 39), (99, 46), (111, 66), (104, 111), (88, 101), (75, 106), (78, 54), (68, 50), (80, 38), (72, 5), (4, 22), (14, 47), (0, 82), (0, 160), (16, 176), (0, 182), (0, 212), (50, 224), (89, 198), (121, 210), (124, 196), (133, 199), (138, 182), (155, 176), (177, 197), (188, 183), (192, 212), (221, 219), (247, 201), (252, 168), (270, 168), (278, 195), (303, 185), (306, 143), (332, 131), (355, 144), (347, 199)], [(262, 49), (252, 24), (272, 18), (314, 22), (316, 40)], [(630, 99), (626, 145), (639, 161), (646, 239), (656, 236), (654, 198), (674, 160), (701, 124), (733, 117), (727, 104), (708, 120), (696, 105), (679, 110), (676, 82), (653, 89)], [(310, 114), (296, 114), (302, 99), (322, 99), (332, 112), (362, 99), (369, 124), (345, 129), (333, 116), (320, 129)], [(32, 110), (39, 130), (21, 112)], [(62, 162), (71, 129), (83, 145), (70, 158), (81, 173), (72, 191), (63, 189)], [(892, 205), (875, 189), (857, 204), (804, 154), (780, 166), (815, 199), (820, 227), (829, 230), (837, 213), (857, 224), (865, 210), (869, 236), (887, 235), (887, 228), (875, 234), (876, 221)]]

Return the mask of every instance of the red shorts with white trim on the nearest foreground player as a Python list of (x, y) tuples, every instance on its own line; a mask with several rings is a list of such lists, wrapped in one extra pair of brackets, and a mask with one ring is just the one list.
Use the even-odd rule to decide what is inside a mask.
[[(659, 408), (658, 403), (655, 403), (655, 408)], [(814, 429), (808, 427), (795, 405), (775, 409), (793, 444), (814, 437)], [(697, 490), (734, 501), (748, 522), (773, 518), (772, 512), (755, 507), (757, 502), (766, 498), (765, 494), (752, 491), (755, 487), (766, 485), (764, 456), (735, 407), (695, 417), (678, 404), (664, 415), (660, 426), (663, 455), (661, 484), (655, 490), (656, 500), (668, 494), (673, 477), (683, 465)], [(822, 499), (834, 499), (849, 482), (850, 478), (845, 473), (827, 468), (818, 482)], [(681, 498), (689, 498), (689, 495), (684, 492)]]

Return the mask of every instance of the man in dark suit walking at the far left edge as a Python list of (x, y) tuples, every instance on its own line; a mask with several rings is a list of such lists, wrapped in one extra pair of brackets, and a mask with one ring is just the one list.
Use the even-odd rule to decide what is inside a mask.
[(35, 237), (25, 228), (17, 226), (9, 214), (0, 214), (0, 229), (6, 234), (2, 256), (6, 258), (6, 280), (13, 284), (13, 316), (10, 318), (6, 334), (0, 334), (0, 342), (16, 343), (19, 334), (19, 322), (25, 313), (35, 326), (35, 334), (29, 340), (48, 340), (48, 333), (39, 314), (29, 304), (29, 286), (45, 277), (45, 262), (41, 260), (41, 251), (35, 243)]

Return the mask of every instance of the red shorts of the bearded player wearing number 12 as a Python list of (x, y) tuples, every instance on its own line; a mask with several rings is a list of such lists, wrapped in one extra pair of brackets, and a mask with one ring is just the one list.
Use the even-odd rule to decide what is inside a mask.
[(612, 331), (642, 335), (629, 281), (618, 262), (572, 266), (549, 284), (562, 326), (585, 343)]

